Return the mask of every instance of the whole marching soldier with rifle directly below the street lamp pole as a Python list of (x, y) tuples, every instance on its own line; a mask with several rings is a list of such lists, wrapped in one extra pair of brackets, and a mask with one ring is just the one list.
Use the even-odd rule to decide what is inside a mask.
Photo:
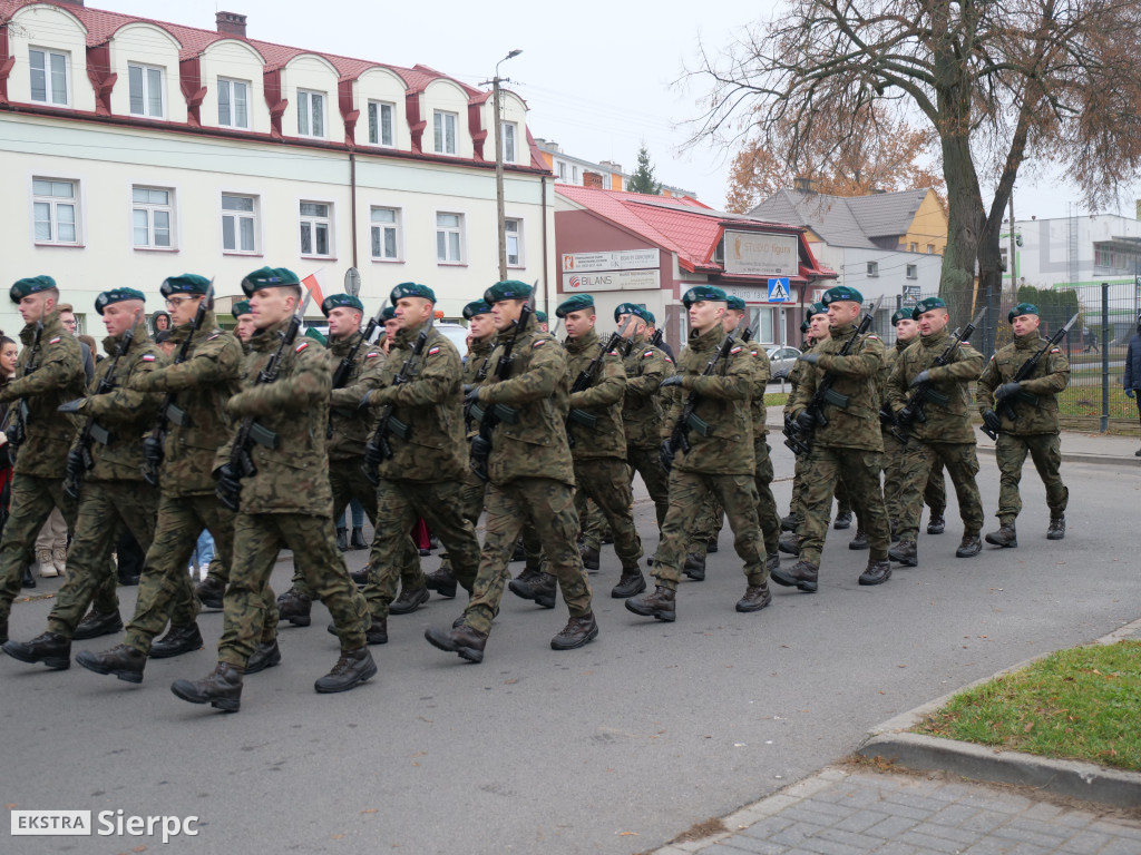
[[(486, 461), (487, 535), (479, 556), (475, 591), (459, 626), (428, 629), (424, 637), (440, 650), (480, 662), (492, 620), (503, 596), (507, 564), (525, 521), (539, 532), (547, 561), (570, 612), (566, 627), (551, 638), (555, 650), (581, 648), (598, 636), (591, 589), (575, 539), (574, 464), (567, 445), (566, 355), (534, 317), (524, 317), (531, 286), (500, 282), (484, 294), (492, 307), (496, 336), (487, 382), (467, 393), (469, 404), (495, 415), (486, 458), (472, 448), (472, 466)], [(500, 376), (500, 357), (511, 345), (510, 376)], [(487, 418), (488, 416), (484, 416)], [(483, 450), (483, 449), (480, 449)]]

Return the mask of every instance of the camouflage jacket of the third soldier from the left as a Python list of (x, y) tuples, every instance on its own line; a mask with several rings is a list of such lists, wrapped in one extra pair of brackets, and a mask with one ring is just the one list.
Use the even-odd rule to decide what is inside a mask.
[[(175, 352), (189, 335), (191, 325), (175, 328), (170, 341)], [(168, 421), (159, 486), (168, 496), (202, 496), (215, 491), (215, 456), (229, 438), (233, 424), (226, 417), (226, 401), (241, 388), (242, 342), (218, 328), (212, 311), (202, 318), (186, 359), (131, 378), (131, 388), (170, 393), (171, 402), (186, 418)]]

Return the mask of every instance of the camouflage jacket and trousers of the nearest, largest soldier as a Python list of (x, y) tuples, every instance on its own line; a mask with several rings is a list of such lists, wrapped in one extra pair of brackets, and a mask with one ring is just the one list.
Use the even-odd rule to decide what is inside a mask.
[[(253, 654), (256, 641), (264, 638), (266, 603), (273, 597), (269, 575), (282, 547), (292, 549), (294, 565), (332, 614), (341, 651), (365, 645), (367, 605), (337, 548), (333, 497), (325, 473), (332, 363), (311, 340), (302, 339), (283, 352), (276, 382), (256, 383), (277, 351), (288, 323), (259, 329), (250, 339), (243, 391), (226, 405), (235, 420), (257, 418), (278, 438), (276, 449), (251, 443), (256, 474), (242, 479), (234, 519), (234, 557), (218, 660), (240, 670)], [(232, 438), (219, 450), (216, 463), (229, 461), (233, 442)]]

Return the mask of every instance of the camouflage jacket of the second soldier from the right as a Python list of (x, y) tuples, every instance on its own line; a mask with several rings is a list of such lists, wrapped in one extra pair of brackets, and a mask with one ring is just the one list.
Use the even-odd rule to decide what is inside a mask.
[(982, 355), (970, 344), (960, 344), (948, 365), (932, 367), (947, 349), (950, 332), (920, 334), (896, 359), (888, 378), (888, 404), (898, 413), (911, 398), (911, 382), (921, 370), (931, 372), (931, 390), (923, 401), (925, 422), (913, 420), (908, 434), (924, 442), (974, 442), (971, 427), (971, 393), (968, 385), (982, 370)]

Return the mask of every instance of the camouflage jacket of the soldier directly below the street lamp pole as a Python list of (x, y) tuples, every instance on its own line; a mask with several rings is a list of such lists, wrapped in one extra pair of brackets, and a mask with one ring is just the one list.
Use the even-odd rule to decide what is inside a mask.
[(488, 477), (496, 484), (547, 478), (574, 487), (566, 352), (549, 333), (539, 332), (532, 317), (516, 340), (511, 376), (501, 381), (499, 360), (513, 334), (511, 326), (495, 336), (487, 382), (479, 386), (480, 407), (503, 404), (511, 410), (510, 421), (501, 417), (492, 431)]

